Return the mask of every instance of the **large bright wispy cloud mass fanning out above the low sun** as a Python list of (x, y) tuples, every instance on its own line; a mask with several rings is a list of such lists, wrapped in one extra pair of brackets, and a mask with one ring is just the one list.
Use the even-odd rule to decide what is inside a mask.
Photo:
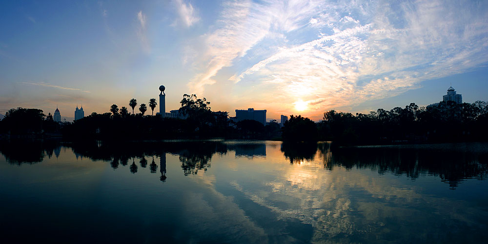
[[(252, 94), (275, 111), (293, 111), (302, 100), (305, 114), (320, 118), (326, 109), (486, 64), (487, 8), (440, 0), (227, 1), (203, 36), (201, 71), (188, 85), (199, 93), (217, 82), (239, 86), (232, 102), (250, 102)], [(216, 79), (227, 66), (236, 73)]]

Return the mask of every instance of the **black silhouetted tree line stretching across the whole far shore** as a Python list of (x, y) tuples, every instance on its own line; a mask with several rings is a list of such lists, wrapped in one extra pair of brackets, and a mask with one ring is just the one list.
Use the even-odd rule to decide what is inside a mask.
[(17, 108), (7, 111), (0, 121), (0, 133), (9, 135), (45, 135), (59, 133), (67, 140), (138, 140), (226, 138), (283, 140), (290, 142), (334, 141), (337, 144), (388, 144), (402, 142), (486, 141), (488, 103), (440, 102), (427, 107), (410, 103), (389, 111), (378, 109), (366, 114), (329, 110), (323, 120), (290, 116), (281, 127), (276, 121), (266, 125), (244, 120), (234, 122), (228, 112), (212, 111), (210, 102), (195, 94), (184, 94), (179, 113), (185, 119), (154, 115), (156, 99), (148, 107), (131, 99), (128, 108), (112, 104), (107, 113), (92, 113), (73, 123), (54, 122), (40, 109)]

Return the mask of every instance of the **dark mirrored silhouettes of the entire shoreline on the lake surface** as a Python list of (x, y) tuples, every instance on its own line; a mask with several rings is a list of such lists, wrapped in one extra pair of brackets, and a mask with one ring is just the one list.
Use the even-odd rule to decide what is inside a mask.
[[(165, 181), (166, 153), (177, 155), (184, 175), (196, 175), (211, 167), (212, 157), (235, 152), (236, 157), (266, 156), (264, 142), (83, 142), (61, 143), (58, 141), (11, 141), (0, 142), (0, 153), (11, 164), (39, 163), (44, 157), (60, 156), (61, 148), (70, 148), (77, 159), (109, 162), (113, 169), (128, 165), (131, 173), (139, 166), (156, 173), (160, 158), (161, 181)], [(371, 169), (379, 175), (393, 173), (405, 175), (412, 180), (419, 176), (432, 175), (455, 189), (465, 179), (485, 180), (488, 174), (486, 144), (457, 143), (435, 145), (366, 146), (351, 148), (331, 147), (331, 143), (282, 143), (281, 152), (290, 163), (305, 163), (320, 158), (324, 168), (333, 170), (340, 166), (348, 170)], [(139, 166), (136, 164), (136, 159)]]

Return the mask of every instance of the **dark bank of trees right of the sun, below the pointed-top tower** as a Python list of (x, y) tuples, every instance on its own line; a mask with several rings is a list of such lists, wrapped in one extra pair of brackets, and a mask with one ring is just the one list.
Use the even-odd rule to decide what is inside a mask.
[(368, 114), (324, 113), (317, 124), (322, 140), (341, 144), (487, 141), (488, 103), (455, 103), (378, 109)]

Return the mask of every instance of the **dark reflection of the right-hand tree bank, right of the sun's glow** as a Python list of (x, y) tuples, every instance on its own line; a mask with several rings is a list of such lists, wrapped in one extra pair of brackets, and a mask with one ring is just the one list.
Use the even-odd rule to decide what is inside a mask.
[(467, 148), (470, 147), (465, 143), (458, 143), (332, 149), (325, 147), (320, 151), (324, 155), (324, 167), (329, 170), (336, 166), (348, 170), (368, 168), (380, 175), (406, 175), (412, 180), (433, 175), (448, 183), (451, 189), (455, 189), (465, 179), (484, 180), (488, 175), (488, 164), (482, 163), (484, 154), (480, 154), (478, 150), (468, 151)]

